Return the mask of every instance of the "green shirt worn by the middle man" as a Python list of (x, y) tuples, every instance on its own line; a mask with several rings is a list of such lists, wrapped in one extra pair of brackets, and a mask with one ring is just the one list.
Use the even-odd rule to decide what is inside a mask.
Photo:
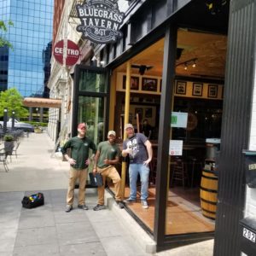
[(120, 150), (117, 144), (110, 144), (108, 141), (99, 143), (98, 151), (100, 151), (100, 156), (97, 162), (99, 168), (105, 168), (109, 165), (104, 164), (104, 160), (115, 160), (116, 156), (120, 155)]

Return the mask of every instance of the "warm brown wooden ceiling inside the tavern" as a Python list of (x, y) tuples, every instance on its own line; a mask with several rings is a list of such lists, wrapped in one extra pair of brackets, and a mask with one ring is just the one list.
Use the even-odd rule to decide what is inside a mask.
[[(227, 50), (227, 36), (202, 32), (178, 30), (177, 48), (183, 49), (176, 61), (176, 75), (202, 79), (224, 79)], [(144, 75), (161, 76), (163, 68), (164, 38), (131, 58), (131, 64), (152, 66)], [(196, 59), (195, 67), (190, 61), (185, 70), (185, 62)], [(118, 72), (126, 71), (126, 63), (117, 67)], [(137, 68), (132, 68), (138, 74)]]

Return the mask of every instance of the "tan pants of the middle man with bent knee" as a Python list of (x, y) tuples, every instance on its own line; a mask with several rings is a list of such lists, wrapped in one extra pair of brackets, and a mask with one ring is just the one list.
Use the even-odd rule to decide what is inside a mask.
[(102, 187), (98, 187), (98, 204), (104, 205), (104, 192), (105, 192), (105, 182), (106, 177), (110, 177), (113, 180), (115, 189), (115, 200), (121, 201), (121, 178), (119, 173), (116, 171), (114, 166), (108, 166), (106, 168), (97, 167), (97, 172), (102, 174)]

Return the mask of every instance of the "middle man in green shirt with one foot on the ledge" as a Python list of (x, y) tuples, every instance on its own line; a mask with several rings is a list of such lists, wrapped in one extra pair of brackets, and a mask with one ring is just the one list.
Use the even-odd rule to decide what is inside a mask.
[(114, 165), (119, 163), (120, 150), (115, 143), (115, 131), (108, 131), (108, 141), (98, 144), (97, 152), (95, 156), (95, 166), (93, 173), (99, 172), (102, 174), (103, 185), (98, 187), (98, 203), (93, 208), (94, 211), (105, 209), (104, 206), (104, 192), (106, 177), (110, 177), (113, 180), (115, 188), (115, 200), (119, 208), (124, 208), (124, 204), (121, 201), (121, 178), (119, 172), (117, 172)]

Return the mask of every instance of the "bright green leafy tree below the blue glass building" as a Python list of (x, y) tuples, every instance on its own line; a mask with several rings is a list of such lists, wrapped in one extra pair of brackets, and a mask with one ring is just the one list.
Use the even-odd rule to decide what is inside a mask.
[(23, 97), (15, 88), (4, 90), (0, 92), (0, 117), (3, 117), (3, 110), (7, 108), (9, 117), (15, 111), (15, 117), (22, 118), (28, 116), (28, 110), (23, 107)]

